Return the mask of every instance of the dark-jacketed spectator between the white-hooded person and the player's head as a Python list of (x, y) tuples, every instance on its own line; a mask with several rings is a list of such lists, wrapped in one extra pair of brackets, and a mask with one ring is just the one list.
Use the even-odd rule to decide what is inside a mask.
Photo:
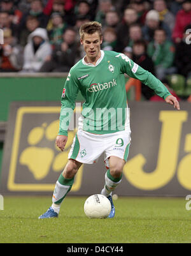
[(46, 58), (39, 72), (69, 72), (77, 56), (76, 31), (68, 27), (63, 34), (62, 43), (55, 45), (52, 55)]

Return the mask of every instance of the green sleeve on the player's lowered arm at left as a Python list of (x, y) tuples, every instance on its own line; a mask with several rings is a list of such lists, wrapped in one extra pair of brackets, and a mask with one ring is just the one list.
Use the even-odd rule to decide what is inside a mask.
[(71, 117), (73, 116), (78, 91), (78, 79), (76, 79), (76, 75), (71, 70), (67, 76), (61, 96), (59, 135), (67, 136), (67, 130)]

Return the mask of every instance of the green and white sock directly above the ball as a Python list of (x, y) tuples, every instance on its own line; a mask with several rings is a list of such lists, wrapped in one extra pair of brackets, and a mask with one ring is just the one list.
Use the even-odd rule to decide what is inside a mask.
[(118, 184), (120, 184), (121, 181), (122, 181), (122, 174), (120, 177), (115, 178), (111, 176), (110, 169), (108, 169), (105, 175), (105, 184), (104, 184), (103, 190), (101, 191), (101, 194), (108, 197), (108, 195), (111, 195), (113, 190), (115, 190), (115, 188), (118, 186)]

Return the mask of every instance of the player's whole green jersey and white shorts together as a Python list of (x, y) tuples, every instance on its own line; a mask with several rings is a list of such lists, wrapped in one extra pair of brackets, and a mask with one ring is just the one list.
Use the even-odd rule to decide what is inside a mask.
[(95, 65), (81, 59), (71, 68), (61, 99), (59, 135), (67, 136), (78, 92), (85, 98), (69, 158), (93, 163), (106, 152), (106, 159), (116, 155), (127, 160), (131, 128), (124, 73), (164, 99), (171, 95), (159, 79), (124, 54), (101, 50)]

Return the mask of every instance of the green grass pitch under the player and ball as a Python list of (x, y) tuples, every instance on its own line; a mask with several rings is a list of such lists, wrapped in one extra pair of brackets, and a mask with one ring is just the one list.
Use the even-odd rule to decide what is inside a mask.
[(59, 218), (38, 220), (51, 197), (4, 197), (0, 243), (191, 243), (185, 198), (119, 197), (104, 220), (85, 216), (86, 198), (67, 196)]

